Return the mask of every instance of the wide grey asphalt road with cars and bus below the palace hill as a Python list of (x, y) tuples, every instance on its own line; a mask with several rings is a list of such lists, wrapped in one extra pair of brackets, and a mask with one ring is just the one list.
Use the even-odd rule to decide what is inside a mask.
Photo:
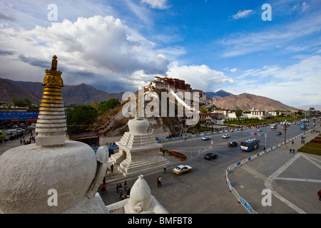
[[(267, 134), (267, 147), (272, 147), (272, 145), (277, 145), (278, 143), (284, 141), (284, 131), (281, 130), (280, 125), (277, 126), (277, 129), (270, 129), (269, 127), (263, 128), (263, 131), (260, 133)], [(277, 131), (282, 132), (282, 135), (275, 135)], [(303, 130), (300, 130), (300, 125), (291, 125), (287, 130), (287, 138), (292, 138), (296, 135), (302, 133)], [(238, 204), (238, 200), (234, 197), (234, 195), (229, 192), (228, 185), (226, 184), (225, 171), (229, 165), (234, 164), (240, 160), (243, 160), (246, 157), (250, 157), (251, 155), (257, 153), (258, 151), (263, 150), (265, 145), (265, 138), (262, 136), (257, 136), (256, 138), (261, 138), (261, 145), (258, 150), (254, 150), (253, 152), (243, 152), (240, 150), (240, 147), (228, 147), (227, 140), (235, 140), (240, 145), (241, 140), (246, 140), (251, 137), (248, 133), (258, 133), (256, 129), (252, 130), (244, 130), (242, 132), (234, 132), (230, 133), (230, 138), (222, 138), (221, 135), (211, 136), (211, 140), (213, 140), (214, 145), (211, 147), (211, 140), (202, 141), (201, 138), (193, 138), (188, 139), (186, 141), (173, 141), (173, 142), (164, 142), (163, 149), (176, 150), (178, 152), (182, 152), (183, 154), (188, 156), (188, 160), (185, 160), (186, 165), (190, 165), (193, 167), (191, 172), (185, 173), (184, 175), (175, 175), (171, 172), (173, 167), (168, 167), (168, 172), (165, 174), (160, 170), (160, 172), (154, 172), (148, 175), (144, 175), (144, 179), (148, 182), (148, 185), (151, 187), (151, 192), (156, 199), (168, 210), (168, 212), (173, 214), (180, 213), (195, 213), (195, 214), (203, 214), (203, 213), (227, 213), (227, 214), (247, 214), (248, 211), (244, 209), (243, 206)], [(310, 137), (310, 135), (307, 135)], [(312, 137), (312, 136), (311, 136)], [(308, 137), (307, 137), (308, 139)], [(300, 147), (300, 139), (295, 140), (295, 145), (293, 148)], [(287, 144), (288, 147), (292, 146), (292, 144)], [(192, 150), (193, 149), (193, 150)], [(275, 150), (278, 151), (279, 149)], [(280, 148), (282, 153), (280, 155), (288, 156), (289, 152), (286, 148)], [(203, 155), (207, 152), (215, 152), (218, 154), (218, 158), (216, 160), (205, 160)], [(273, 152), (266, 156), (270, 156), (272, 158)], [(274, 152), (277, 155), (277, 152)], [(283, 158), (282, 158), (283, 159)], [(277, 170), (279, 166), (282, 166), (282, 162), (287, 162), (288, 159), (285, 157), (284, 161), (280, 157), (275, 157), (275, 160), (279, 162), (271, 162), (269, 167)], [(264, 164), (265, 158), (262, 158), (260, 162)], [(252, 164), (255, 164), (253, 161)], [(257, 164), (259, 164), (257, 162)], [(273, 165), (276, 164), (276, 165)], [(245, 167), (245, 165), (244, 165)], [(250, 167), (250, 166), (248, 166)], [(262, 164), (260, 164), (262, 167)], [(260, 167), (253, 168), (260, 169)], [(238, 169), (237, 169), (238, 170)], [(300, 169), (302, 172), (302, 168)], [(272, 171), (268, 171), (272, 172)], [(273, 171), (274, 172), (274, 171)], [(320, 172), (320, 170), (319, 170)], [(233, 173), (233, 172), (232, 172)], [(257, 172), (252, 172), (250, 175), (248, 172), (247, 177), (251, 178), (252, 175), (255, 177)], [(238, 171), (235, 171), (235, 177), (237, 177)], [(156, 177), (161, 175), (163, 186), (157, 187), (156, 185)], [(267, 175), (268, 177), (268, 175)], [(233, 185), (244, 188), (243, 183), (239, 182), (241, 180), (240, 177), (238, 179), (233, 180)], [(135, 178), (128, 179), (128, 186), (131, 187), (133, 183), (136, 181)], [(264, 179), (264, 178), (263, 178)], [(251, 180), (246, 180), (251, 181)], [(253, 183), (251, 183), (251, 187), (258, 185), (258, 197), (260, 199), (262, 196), (260, 192), (263, 190), (263, 184), (256, 183), (256, 180), (253, 178)], [(108, 180), (107, 185), (107, 195), (103, 195), (103, 201), (105, 204), (112, 204), (113, 202), (117, 202), (118, 199), (115, 193), (116, 183), (121, 182), (123, 185), (123, 179)], [(245, 189), (243, 189), (244, 192)], [(246, 191), (245, 191), (246, 192)], [(250, 195), (243, 193), (245, 197), (251, 198)], [(258, 198), (257, 197), (257, 198)], [(250, 202), (250, 199), (248, 199)], [(259, 209), (262, 207), (260, 204), (255, 204), (258, 206), (255, 209)], [(292, 209), (290, 212), (287, 210), (287, 205), (282, 207), (277, 207), (270, 209), (268, 213), (295, 213)], [(264, 210), (260, 211), (266, 213)], [(320, 211), (321, 212), (321, 211)]]

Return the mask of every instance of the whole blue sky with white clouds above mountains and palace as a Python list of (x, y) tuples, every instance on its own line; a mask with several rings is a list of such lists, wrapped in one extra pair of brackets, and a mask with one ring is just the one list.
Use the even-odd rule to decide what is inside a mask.
[(56, 54), (66, 85), (116, 93), (170, 76), (321, 105), (320, 28), (316, 0), (0, 1), (0, 78), (42, 81)]

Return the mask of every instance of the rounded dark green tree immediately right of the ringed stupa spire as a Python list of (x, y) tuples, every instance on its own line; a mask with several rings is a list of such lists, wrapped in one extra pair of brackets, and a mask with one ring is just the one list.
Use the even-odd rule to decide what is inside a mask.
[(67, 133), (69, 135), (88, 131), (98, 117), (97, 110), (90, 105), (76, 105), (66, 111)]

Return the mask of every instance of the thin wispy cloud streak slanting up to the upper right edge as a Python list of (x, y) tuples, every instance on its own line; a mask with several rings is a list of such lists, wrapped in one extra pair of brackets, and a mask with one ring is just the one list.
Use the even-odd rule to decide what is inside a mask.
[[(244, 56), (258, 51), (285, 50), (290, 46), (297, 46), (298, 43), (305, 43), (304, 47), (292, 48), (292, 52), (307, 50), (319, 46), (317, 33), (320, 32), (321, 15), (313, 14), (299, 21), (280, 26), (272, 26), (263, 31), (250, 33), (233, 33), (218, 41), (219, 45), (225, 47), (222, 51), (223, 57)], [(306, 43), (307, 36), (315, 36), (309, 43)], [(289, 51), (289, 50), (285, 50)]]

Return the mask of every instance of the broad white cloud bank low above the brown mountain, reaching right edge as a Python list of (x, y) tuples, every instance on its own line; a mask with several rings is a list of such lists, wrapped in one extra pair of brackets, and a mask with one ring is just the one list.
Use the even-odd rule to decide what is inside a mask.
[(223, 88), (231, 93), (252, 93), (279, 100), (294, 107), (310, 103), (321, 104), (318, 82), (321, 78), (321, 56), (310, 56), (298, 63), (280, 67), (243, 71), (235, 78), (238, 87)]

